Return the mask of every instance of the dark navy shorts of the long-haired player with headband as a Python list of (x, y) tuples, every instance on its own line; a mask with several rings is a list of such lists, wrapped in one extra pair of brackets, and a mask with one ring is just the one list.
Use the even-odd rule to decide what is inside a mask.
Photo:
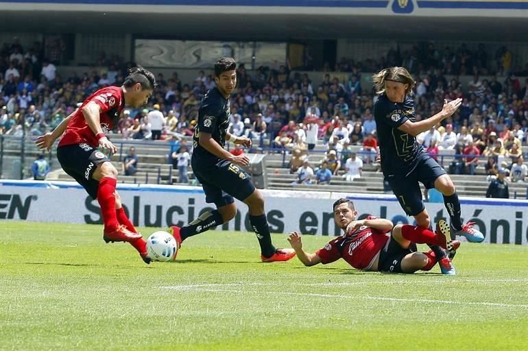
[(416, 216), (425, 208), (418, 182), (424, 184), (426, 189), (432, 189), (435, 187), (435, 180), (444, 174), (447, 174), (446, 170), (433, 158), (425, 155), (411, 173), (388, 176), (386, 179), (405, 213)]

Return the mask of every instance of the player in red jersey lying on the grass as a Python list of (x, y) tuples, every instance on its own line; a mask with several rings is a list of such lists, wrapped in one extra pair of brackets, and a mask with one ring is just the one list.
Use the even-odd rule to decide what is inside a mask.
[[(420, 226), (398, 224), (368, 216), (356, 220), (357, 211), (349, 199), (334, 202), (334, 220), (344, 234), (327, 243), (314, 254), (302, 250), (301, 235), (291, 232), (288, 241), (305, 266), (332, 263), (343, 258), (356, 269), (390, 273), (429, 271), (438, 263), (442, 274), (455, 274), (451, 260), (445, 254), (439, 259), (433, 250), (416, 252), (416, 243), (440, 245), (443, 250), (457, 250), (460, 242), (451, 241), (449, 225), (440, 219), (437, 233)], [(391, 234), (388, 234), (391, 232)]]

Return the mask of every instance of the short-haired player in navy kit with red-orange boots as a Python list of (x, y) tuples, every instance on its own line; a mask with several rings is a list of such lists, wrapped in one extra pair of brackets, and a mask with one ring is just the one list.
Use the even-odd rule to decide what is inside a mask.
[(198, 123), (193, 135), (191, 165), (202, 184), (206, 202), (214, 203), (216, 210), (207, 211), (182, 228), (173, 226), (171, 233), (178, 242), (200, 234), (237, 214), (233, 197), (248, 205), (251, 226), (259, 239), (263, 262), (288, 261), (295, 256), (291, 249), (277, 249), (272, 244), (264, 211), (264, 199), (255, 189), (250, 176), (241, 166), (250, 162), (248, 156), (234, 156), (224, 149), (226, 141), (235, 145), (251, 146), (251, 139), (228, 132), (229, 98), (237, 85), (237, 63), (232, 58), (221, 58), (215, 63), (216, 87), (207, 92), (198, 112)]

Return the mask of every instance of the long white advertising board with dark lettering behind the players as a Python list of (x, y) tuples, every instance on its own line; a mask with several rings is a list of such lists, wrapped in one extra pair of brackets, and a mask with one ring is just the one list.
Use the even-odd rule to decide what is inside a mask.
[[(119, 184), (119, 194), (135, 225), (182, 226), (201, 215), (206, 204), (202, 189), (193, 186)], [(394, 223), (409, 223), (393, 195), (354, 195), (331, 192), (264, 190), (272, 232), (300, 230), (304, 234), (337, 235), (332, 204), (339, 197), (355, 202), (359, 217), (376, 215)], [(475, 221), (485, 243), (528, 245), (528, 202), (461, 198), (465, 221)], [(251, 231), (247, 207), (222, 230)], [(446, 217), (444, 204), (427, 204), (434, 221)], [(73, 182), (0, 181), (0, 219), (62, 223), (101, 223), (99, 206)], [(1, 233), (1, 230), (0, 230)]]

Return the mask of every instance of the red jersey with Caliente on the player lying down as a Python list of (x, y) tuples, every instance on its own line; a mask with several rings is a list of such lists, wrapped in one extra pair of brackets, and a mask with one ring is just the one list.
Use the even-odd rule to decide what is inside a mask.
[[(376, 217), (368, 216), (367, 219), (376, 219)], [(325, 265), (343, 258), (354, 268), (369, 269), (389, 238), (387, 232), (361, 226), (351, 235), (338, 237), (328, 242), (315, 254)]]

